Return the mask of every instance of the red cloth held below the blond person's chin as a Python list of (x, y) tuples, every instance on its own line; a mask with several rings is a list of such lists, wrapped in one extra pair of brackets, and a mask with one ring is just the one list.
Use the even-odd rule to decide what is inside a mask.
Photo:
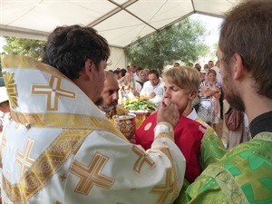
[[(157, 113), (151, 114), (135, 132), (136, 144), (141, 144), (145, 150), (150, 149), (154, 141), (153, 130), (156, 123)], [(199, 168), (199, 150), (203, 133), (199, 131), (199, 125), (201, 124), (198, 121), (181, 116), (174, 129), (175, 142), (186, 159), (185, 177), (189, 182), (193, 182), (201, 171)]]

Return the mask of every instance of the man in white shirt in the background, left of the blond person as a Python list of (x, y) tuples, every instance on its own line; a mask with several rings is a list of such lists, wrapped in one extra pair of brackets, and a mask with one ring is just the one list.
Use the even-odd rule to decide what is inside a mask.
[(164, 82), (160, 79), (157, 70), (151, 70), (148, 75), (149, 81), (143, 84), (140, 95), (148, 98), (159, 107), (164, 93)]

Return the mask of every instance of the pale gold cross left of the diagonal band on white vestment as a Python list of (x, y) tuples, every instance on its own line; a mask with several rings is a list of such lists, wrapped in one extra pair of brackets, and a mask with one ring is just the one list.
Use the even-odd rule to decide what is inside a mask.
[(34, 163), (34, 159), (30, 158), (30, 152), (34, 146), (34, 140), (27, 139), (24, 145), (24, 151), (17, 152), (17, 164), (20, 166), (20, 175), (23, 175), (26, 170), (28, 170)]

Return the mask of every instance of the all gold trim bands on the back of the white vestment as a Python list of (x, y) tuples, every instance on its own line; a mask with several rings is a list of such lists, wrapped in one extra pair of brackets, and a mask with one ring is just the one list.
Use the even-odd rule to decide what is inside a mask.
[[(11, 72), (12, 70), (30, 69), (43, 71), (54, 75), (56, 78), (65, 78), (70, 81), (62, 73), (58, 72), (53, 67), (40, 63), (29, 57), (20, 55), (5, 55), (2, 57), (2, 65), (4, 71)], [(9, 70), (11, 69), (11, 71)], [(7, 74), (7, 73), (6, 73)], [(17, 107), (17, 89), (16, 84), (12, 79), (14, 73), (8, 73), (11, 84), (14, 84), (10, 91), (9, 97), (14, 97), (14, 108)], [(115, 129), (112, 123), (106, 119), (100, 119), (87, 115), (69, 114), (69, 113), (22, 113), (11, 110), (13, 120), (20, 124), (28, 124), (30, 127), (57, 127), (63, 128), (61, 135), (44, 151), (40, 157), (35, 160), (33, 166), (24, 174), (24, 177), (17, 184), (11, 184), (4, 174), (2, 174), (3, 188), (6, 196), (15, 203), (25, 203), (32, 198), (35, 193), (46, 185), (58, 170), (65, 160), (73, 152), (79, 150), (80, 145), (86, 136), (93, 130), (110, 131), (118, 135), (122, 140), (128, 141), (120, 131)], [(73, 127), (73, 129), (71, 129)], [(65, 130), (65, 128), (67, 128)], [(76, 130), (75, 130), (76, 129)], [(7, 175), (7, 173), (5, 173)]]

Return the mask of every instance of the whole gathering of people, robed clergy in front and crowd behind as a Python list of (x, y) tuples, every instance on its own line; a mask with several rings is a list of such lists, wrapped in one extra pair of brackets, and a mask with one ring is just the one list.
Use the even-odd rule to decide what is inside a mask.
[[(204, 70), (105, 71), (109, 44), (82, 25), (53, 30), (42, 62), (3, 55), (2, 202), (272, 203), (271, 16), (271, 0), (230, 10)], [(112, 116), (135, 96), (157, 110), (128, 140)], [(228, 108), (243, 123), (226, 139)]]

